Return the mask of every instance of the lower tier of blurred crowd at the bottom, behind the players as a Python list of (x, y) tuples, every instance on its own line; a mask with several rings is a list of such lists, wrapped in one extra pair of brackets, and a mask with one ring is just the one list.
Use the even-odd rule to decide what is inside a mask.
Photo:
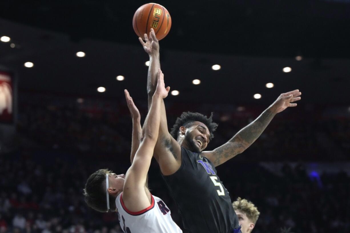
[[(118, 157), (71, 154), (16, 153), (0, 159), (1, 233), (121, 233), (116, 213), (93, 211), (84, 202), (87, 177), (99, 168), (125, 173)], [(218, 175), (231, 199), (251, 200), (260, 211), (254, 233), (350, 232), (350, 177), (346, 173), (307, 174), (302, 165), (285, 164), (282, 176), (257, 163), (231, 161)], [(318, 176), (318, 175), (316, 175)], [(172, 211), (181, 226), (176, 205), (153, 162), (149, 186)]]

